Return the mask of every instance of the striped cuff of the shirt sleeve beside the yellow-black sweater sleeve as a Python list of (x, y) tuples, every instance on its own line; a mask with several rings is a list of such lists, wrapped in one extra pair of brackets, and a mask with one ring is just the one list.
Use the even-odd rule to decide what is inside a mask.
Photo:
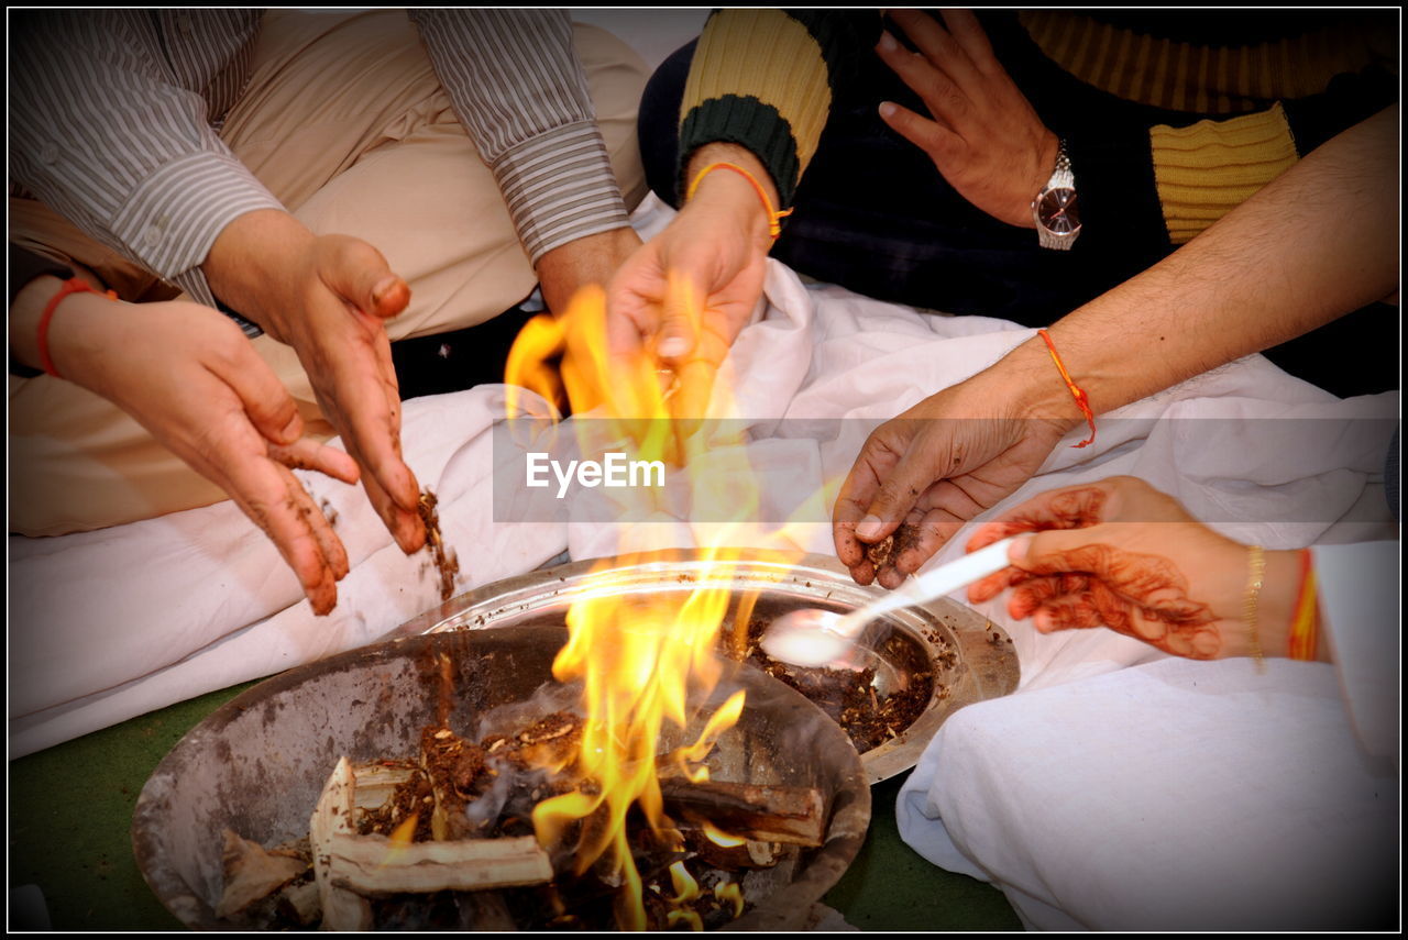
[(605, 141), (591, 121), (518, 144), (491, 169), (535, 266), (567, 242), (631, 224)]

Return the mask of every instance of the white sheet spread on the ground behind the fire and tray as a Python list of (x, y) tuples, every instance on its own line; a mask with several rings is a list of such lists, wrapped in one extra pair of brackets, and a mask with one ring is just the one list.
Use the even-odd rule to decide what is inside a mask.
[[(638, 228), (648, 235), (669, 217), (670, 210), (648, 200)], [(728, 367), (742, 390), (741, 412), (756, 421), (755, 449), (779, 501), (839, 480), (862, 438), (852, 428), (846, 439), (788, 439), (777, 436), (776, 418), (888, 418), (1031, 335), (1002, 321), (926, 315), (836, 287), (807, 288), (776, 262), (769, 262), (766, 300)], [(603, 523), (494, 525), (487, 431), (501, 414), (500, 387), (406, 405), (407, 460), (441, 497), (446, 538), (467, 573), (465, 588), (531, 570), (569, 545), (573, 557), (612, 553), (622, 535)], [(1239, 431), (1219, 425), (1224, 439), (1208, 440), (1190, 436), (1190, 422), (1157, 422), (1214, 415), (1391, 418), (1397, 395), (1338, 401), (1253, 356), (1122, 409), (1118, 417), (1139, 421), (1102, 422), (1093, 447), (1059, 447), (1014, 500), (1132, 473), (1195, 514), (1215, 509), (1229, 519), (1221, 526), (1229, 535), (1291, 546), (1314, 540), (1328, 523), (1256, 519), (1335, 519), (1383, 466), (1387, 440), (1371, 435), (1329, 447), (1324, 439), (1286, 439), (1284, 422), (1255, 421)], [(315, 498), (337, 508), (353, 564), (329, 618), (313, 616), (272, 545), (230, 504), (61, 539), (13, 536), (11, 756), (352, 649), (436, 602), (424, 556), (406, 559), (396, 550), (360, 490), (306, 480)], [(672, 529), (673, 542), (693, 539), (689, 525)], [(769, 536), (755, 532), (741, 540), (767, 543)], [(791, 542), (832, 550), (824, 523), (794, 529)], [(960, 543), (941, 559), (962, 552)], [(1005, 625), (1005, 614), (990, 606)], [(1007, 626), (1024, 688), (1157, 657), (1108, 632), (1038, 636)]]

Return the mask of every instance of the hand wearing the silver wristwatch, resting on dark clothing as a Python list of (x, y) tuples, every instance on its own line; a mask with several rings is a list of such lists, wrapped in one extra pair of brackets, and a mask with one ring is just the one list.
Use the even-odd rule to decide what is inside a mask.
[(945, 10), (939, 25), (919, 10), (890, 15), (919, 52), (888, 32), (876, 52), (934, 120), (893, 101), (881, 103), (881, 120), (928, 153), (969, 203), (1008, 225), (1035, 228), (1032, 200), (1056, 167), (1059, 141), (998, 63), (977, 18)]

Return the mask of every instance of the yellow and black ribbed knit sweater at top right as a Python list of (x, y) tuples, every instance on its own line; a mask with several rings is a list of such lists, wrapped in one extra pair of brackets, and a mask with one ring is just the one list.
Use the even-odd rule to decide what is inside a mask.
[[(742, 144), (790, 205), (834, 97), (856, 56), (873, 55), (880, 28), (873, 11), (717, 11), (684, 87), (680, 166), (711, 141)], [(1059, 69), (1097, 106), (1143, 115), (1107, 132), (1033, 100), (1069, 139), (1087, 228), (1102, 214), (1128, 217), (1146, 205), (1162, 227), (1142, 224), (1159, 228), (1166, 246), (1187, 242), (1300, 156), (1397, 100), (1394, 11), (1043, 10), (1017, 14), (1012, 31), (1022, 41), (1008, 45), (1010, 56), (1045, 59), (1042, 68)], [(1002, 48), (998, 56), (1018, 87), (1039, 97), (1018, 76), (1039, 70), (1014, 69)], [(1363, 75), (1376, 76), (1371, 89), (1345, 87)], [(1135, 189), (1153, 191), (1140, 198)]]

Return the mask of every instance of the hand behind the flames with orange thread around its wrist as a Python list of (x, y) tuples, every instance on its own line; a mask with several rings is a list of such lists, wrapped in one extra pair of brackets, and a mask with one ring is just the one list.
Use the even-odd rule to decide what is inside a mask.
[[(767, 170), (736, 145), (701, 148), (690, 173), (718, 160), (748, 169), (777, 204)], [(611, 355), (652, 355), (670, 367), (679, 383), (672, 400), (677, 417), (705, 412), (714, 376), (762, 297), (770, 248), (758, 191), (734, 172), (714, 170), (607, 288)]]

